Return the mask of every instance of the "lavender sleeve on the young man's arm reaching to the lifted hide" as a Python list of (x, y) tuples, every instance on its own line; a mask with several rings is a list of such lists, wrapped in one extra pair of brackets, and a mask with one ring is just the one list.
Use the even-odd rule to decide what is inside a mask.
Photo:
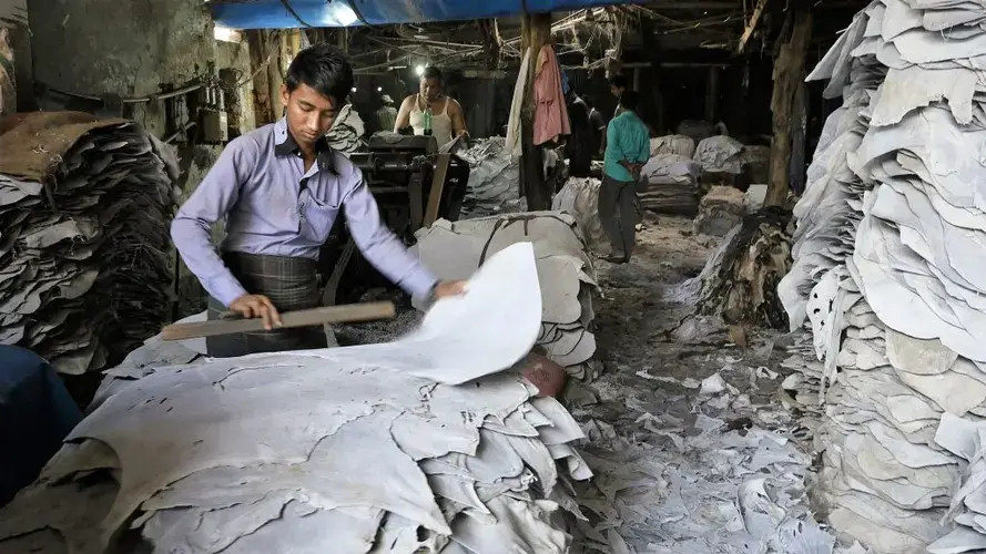
[(416, 297), (426, 297), (438, 279), (384, 225), (377, 202), (363, 181), (363, 172), (353, 166), (343, 172), (340, 184), (349, 191), (343, 206), (356, 246), (395, 285)]

